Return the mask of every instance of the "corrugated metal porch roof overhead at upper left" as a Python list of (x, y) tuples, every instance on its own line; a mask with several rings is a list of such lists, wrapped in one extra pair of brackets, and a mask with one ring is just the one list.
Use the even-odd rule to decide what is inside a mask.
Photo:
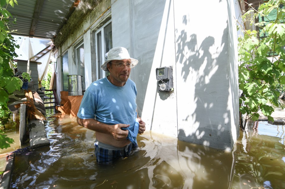
[(12, 35), (54, 38), (75, 10), (80, 0), (18, 0), (14, 8), (8, 6), (16, 23), (9, 25)]

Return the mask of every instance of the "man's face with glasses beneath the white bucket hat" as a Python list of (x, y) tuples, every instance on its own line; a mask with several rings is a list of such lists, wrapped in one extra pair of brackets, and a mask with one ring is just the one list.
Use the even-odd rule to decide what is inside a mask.
[[(113, 85), (124, 86), (126, 81), (129, 79), (131, 68), (127, 68), (126, 64), (131, 63), (130, 59), (123, 60), (112, 60), (111, 65), (107, 64), (107, 68), (110, 71), (110, 80)], [(116, 64), (123, 63), (124, 67), (117, 67)]]

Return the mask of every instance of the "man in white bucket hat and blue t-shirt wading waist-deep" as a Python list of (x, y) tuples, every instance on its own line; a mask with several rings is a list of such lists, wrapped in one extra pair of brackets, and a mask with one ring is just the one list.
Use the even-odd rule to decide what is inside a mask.
[[(137, 115), (137, 88), (129, 79), (138, 61), (124, 47), (108, 52), (101, 69), (110, 76), (91, 83), (77, 114), (77, 123), (96, 131), (95, 155), (98, 164), (110, 164), (137, 148), (137, 134), (145, 131), (145, 122)], [(94, 116), (95, 115), (95, 116)]]

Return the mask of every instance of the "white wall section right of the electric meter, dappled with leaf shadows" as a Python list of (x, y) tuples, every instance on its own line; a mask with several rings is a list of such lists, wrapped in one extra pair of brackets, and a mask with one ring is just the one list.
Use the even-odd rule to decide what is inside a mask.
[[(207, 6), (198, 13), (201, 4)], [(231, 149), (232, 127), (238, 128), (232, 9), (226, 0), (175, 1), (174, 7), (178, 139)]]

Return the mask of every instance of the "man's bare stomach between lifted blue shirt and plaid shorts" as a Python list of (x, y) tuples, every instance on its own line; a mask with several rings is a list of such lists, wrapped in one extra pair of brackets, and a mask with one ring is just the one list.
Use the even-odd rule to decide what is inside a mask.
[(100, 133), (98, 131), (95, 132), (96, 135), (96, 139), (99, 142), (105, 143), (105, 144), (109, 144), (111, 146), (115, 146), (117, 148), (121, 148), (124, 147), (126, 145), (128, 145), (129, 143), (131, 143), (131, 141), (129, 141), (128, 139), (124, 139), (124, 140), (116, 140), (113, 135), (109, 135), (106, 133)]

